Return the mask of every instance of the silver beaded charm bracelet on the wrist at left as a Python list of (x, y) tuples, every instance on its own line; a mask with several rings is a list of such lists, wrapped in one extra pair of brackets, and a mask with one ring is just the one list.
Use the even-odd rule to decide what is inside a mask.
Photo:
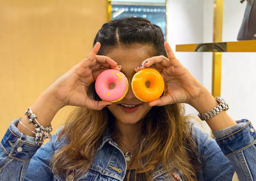
[(52, 131), (51, 125), (49, 127), (43, 127), (42, 125), (40, 125), (40, 123), (36, 119), (36, 114), (33, 114), (31, 107), (29, 107), (29, 109), (25, 112), (25, 115), (28, 117), (28, 123), (34, 124), (33, 127), (36, 130), (36, 144), (38, 146), (44, 144), (44, 139), (52, 139), (50, 133)]

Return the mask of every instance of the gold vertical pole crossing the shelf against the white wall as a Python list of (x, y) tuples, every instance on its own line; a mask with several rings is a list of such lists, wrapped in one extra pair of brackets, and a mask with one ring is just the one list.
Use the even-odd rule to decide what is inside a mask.
[[(214, 0), (213, 42), (222, 42), (223, 0)], [(220, 96), (221, 52), (212, 52), (212, 95)]]

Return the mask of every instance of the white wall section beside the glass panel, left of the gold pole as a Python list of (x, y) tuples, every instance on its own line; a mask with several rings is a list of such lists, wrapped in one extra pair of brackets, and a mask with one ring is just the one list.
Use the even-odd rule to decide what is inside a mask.
[[(202, 53), (176, 52), (175, 45), (184, 43), (200, 43), (204, 37), (204, 3), (202, 0), (168, 0), (167, 7), (167, 41), (170, 43), (175, 56), (189, 69), (198, 81), (202, 83)], [(193, 114), (195, 118), (198, 113), (193, 107), (185, 104), (186, 113)], [(199, 119), (199, 118), (198, 118)], [(204, 127), (209, 132), (209, 127), (202, 122), (196, 123), (198, 127)]]

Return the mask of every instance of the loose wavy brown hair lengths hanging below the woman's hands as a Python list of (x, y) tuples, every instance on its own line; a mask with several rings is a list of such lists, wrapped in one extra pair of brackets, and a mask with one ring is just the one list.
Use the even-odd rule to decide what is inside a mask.
[[(58, 138), (67, 139), (68, 143), (51, 159), (56, 174), (67, 177), (76, 169), (77, 178), (88, 171), (104, 130), (115, 121), (107, 109), (77, 107), (70, 114)], [(184, 178), (195, 180), (196, 145), (191, 139), (188, 118), (179, 104), (152, 107), (141, 120), (139, 138), (138, 173), (152, 177), (154, 168), (163, 164), (167, 172), (172, 171), (170, 166), (175, 166)]]

